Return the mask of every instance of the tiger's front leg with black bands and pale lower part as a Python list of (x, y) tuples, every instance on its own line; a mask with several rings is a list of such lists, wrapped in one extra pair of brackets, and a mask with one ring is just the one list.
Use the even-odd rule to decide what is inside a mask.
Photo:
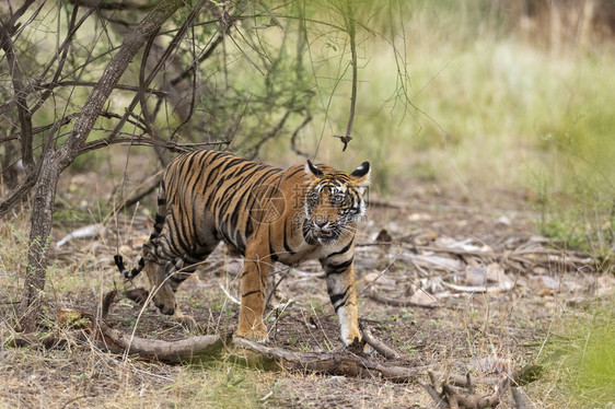
[(361, 341), (353, 256), (345, 254), (321, 260), (327, 280), (327, 293), (339, 319), (341, 340), (346, 346)]

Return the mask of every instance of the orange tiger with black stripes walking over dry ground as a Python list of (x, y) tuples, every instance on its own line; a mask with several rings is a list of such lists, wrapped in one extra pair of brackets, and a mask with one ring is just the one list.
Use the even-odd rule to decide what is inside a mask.
[[(126, 279), (143, 269), (162, 314), (182, 316), (178, 285), (224, 242), (243, 258), (241, 306), (235, 334), (266, 341), (263, 320), (267, 274), (275, 261), (295, 267), (320, 260), (346, 346), (362, 342), (355, 281), (355, 236), (365, 215), (370, 163), (352, 173), (324, 164), (286, 171), (224, 151), (184, 153), (160, 183), (154, 227)], [(369, 348), (369, 347), (368, 347)]]

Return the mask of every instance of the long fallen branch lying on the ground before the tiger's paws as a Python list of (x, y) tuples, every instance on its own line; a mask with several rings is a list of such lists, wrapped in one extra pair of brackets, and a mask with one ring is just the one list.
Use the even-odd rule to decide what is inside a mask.
[[(117, 294), (111, 291), (103, 297), (101, 318), (96, 314), (81, 311), (63, 311), (58, 315), (58, 324), (65, 327), (79, 327), (80, 339), (91, 339), (103, 349), (114, 353), (137, 355), (144, 360), (177, 364), (219, 360), (225, 358), (250, 366), (271, 371), (315, 372), (330, 375), (356, 377), (380, 377), (392, 382), (415, 382), (425, 373), (426, 367), (406, 367), (386, 365), (371, 360), (352, 350), (361, 351), (361, 344), (352, 344), (341, 351), (334, 352), (293, 352), (282, 348), (267, 347), (243, 338), (230, 336), (199, 336), (177, 341), (144, 339), (109, 327), (105, 323), (111, 305)], [(371, 331), (363, 330), (365, 340), (385, 358), (399, 358), (399, 354), (373, 337)], [(65, 337), (49, 336), (40, 339), (35, 335), (22, 336), (13, 342), (15, 347), (36, 346), (43, 343), (49, 348), (58, 347)]]

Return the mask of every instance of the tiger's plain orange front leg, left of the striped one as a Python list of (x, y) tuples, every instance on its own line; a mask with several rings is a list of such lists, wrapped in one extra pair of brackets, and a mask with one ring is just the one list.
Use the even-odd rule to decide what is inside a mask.
[(241, 273), (242, 300), (237, 335), (258, 342), (267, 340), (267, 327), (263, 322), (269, 257), (260, 259), (246, 252)]

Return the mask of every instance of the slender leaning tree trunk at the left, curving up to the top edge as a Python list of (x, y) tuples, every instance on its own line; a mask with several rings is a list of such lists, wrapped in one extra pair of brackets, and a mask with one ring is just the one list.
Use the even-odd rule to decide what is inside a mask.
[(162, 0), (132, 33), (126, 35), (120, 49), (113, 57), (98, 83), (92, 90), (67, 141), (57, 151), (48, 152), (43, 157), (40, 176), (36, 183), (33, 198), (28, 265), (23, 299), (20, 305), (20, 327), (26, 332), (35, 330), (42, 312), (58, 177), (77, 157), (79, 149), (85, 143), (104, 103), (135, 55), (148, 38), (154, 36), (161, 25), (183, 4), (182, 0)]

